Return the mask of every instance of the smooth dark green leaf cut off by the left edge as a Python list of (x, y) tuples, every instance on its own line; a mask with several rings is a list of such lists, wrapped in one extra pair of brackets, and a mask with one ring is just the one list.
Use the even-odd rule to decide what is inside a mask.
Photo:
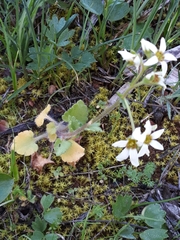
[(13, 185), (14, 180), (11, 176), (0, 173), (0, 203), (11, 193)]

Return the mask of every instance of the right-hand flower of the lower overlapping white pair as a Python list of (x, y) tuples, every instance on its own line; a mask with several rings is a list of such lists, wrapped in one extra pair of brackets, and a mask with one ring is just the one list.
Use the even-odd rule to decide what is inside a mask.
[(164, 129), (160, 129), (158, 131), (151, 133), (152, 131), (156, 130), (157, 125), (151, 125), (149, 120), (146, 122), (144, 127), (146, 130), (140, 135), (139, 141), (143, 142), (143, 145), (138, 153), (138, 157), (142, 157), (145, 154), (149, 156), (149, 149), (148, 149), (149, 145), (158, 150), (164, 149), (163, 145), (155, 140), (163, 134)]

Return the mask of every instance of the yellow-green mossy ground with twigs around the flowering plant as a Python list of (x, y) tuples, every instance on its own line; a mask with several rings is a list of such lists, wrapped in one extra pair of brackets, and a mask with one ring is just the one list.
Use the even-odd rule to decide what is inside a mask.
[[(60, 8), (57, 3), (49, 5), (51, 16), (53, 13), (59, 17), (66, 16), (68, 11)], [(151, 7), (147, 6), (146, 10)], [(164, 18), (166, 11), (167, 8), (164, 8), (164, 12), (162, 12)], [(70, 51), (78, 42), (79, 36), (82, 34), (79, 25), (84, 21), (83, 11), (77, 4), (72, 6), (72, 13), (78, 13), (79, 19), (73, 23), (75, 35), (71, 39), (70, 45), (66, 47), (67, 51)], [(11, 14), (13, 15), (13, 12)], [(37, 22), (35, 22), (37, 25), (41, 14), (40, 11)], [(158, 14), (161, 12), (154, 17), (151, 23), (152, 29), (155, 29)], [(146, 19), (146, 15), (144, 15), (139, 21), (145, 23)], [(180, 20), (179, 15), (177, 19)], [(174, 26), (175, 30), (179, 29), (178, 20)], [(128, 21), (127, 17), (124, 22), (117, 21), (113, 23), (113, 26), (112, 23), (107, 23), (106, 40), (121, 36)], [(91, 47), (96, 45), (95, 36), (99, 27), (97, 23), (90, 33), (89, 46)], [(3, 39), (1, 32), (0, 36)], [(101, 39), (101, 41), (105, 40)], [(175, 47), (179, 43), (180, 39), (177, 38), (168, 47)], [(81, 49), (83, 50), (83, 48), (85, 46), (82, 44)], [(35, 126), (34, 119), (47, 103), (51, 104), (50, 115), (56, 120), (61, 120), (62, 114), (79, 99), (87, 104), (90, 118), (103, 111), (108, 99), (124, 82), (132, 79), (123, 73), (121, 73), (121, 79), (116, 78), (122, 67), (120, 56), (117, 54), (118, 50), (119, 46), (114, 43), (105, 45), (105, 50), (97, 49), (94, 52), (96, 62), (79, 72), (78, 79), (75, 72), (67, 69), (65, 64), (54, 67), (45, 73), (42, 71), (39, 76), (40, 80), (36, 79), (13, 99), (8, 100), (8, 97), (14, 93), (14, 89), (10, 81), (11, 74), (8, 68), (6, 48), (1, 47), (0, 55), (4, 65), (0, 67), (0, 120), (5, 120), (9, 124), (9, 129), (0, 132), (0, 172), (9, 173), (10, 171), (10, 147), (14, 136), (26, 129), (32, 129), (35, 134), (44, 130), (43, 127)], [(21, 70), (18, 63), (17, 69)], [(18, 74), (18, 71), (16, 73), (19, 89), (31, 81), (34, 76), (31, 75), (30, 70), (27, 72), (28, 77)], [(164, 151), (156, 151), (151, 148), (150, 156), (141, 158), (138, 168), (132, 167), (128, 159), (123, 162), (116, 161), (115, 157), (119, 154), (120, 149), (113, 148), (112, 143), (126, 139), (131, 134), (129, 118), (122, 106), (102, 119), (103, 132), (84, 132), (81, 135), (78, 142), (85, 148), (85, 155), (76, 164), (76, 167), (64, 163), (60, 157), (55, 156), (48, 140), (41, 140), (39, 154), (48, 158), (52, 153), (51, 160), (54, 161), (54, 164), (47, 164), (42, 171), (37, 171), (32, 167), (30, 157), (15, 154), (19, 180), (15, 182), (12, 193), (6, 199), (13, 199), (13, 201), (0, 207), (0, 239), (22, 240), (28, 239), (28, 236), (33, 234), (33, 221), (37, 216), (42, 217), (43, 209), (40, 200), (43, 195), (53, 195), (55, 198), (52, 207), (59, 207), (62, 212), (61, 223), (58, 226), (48, 226), (46, 233), (55, 232), (59, 234), (58, 239), (68, 240), (125, 239), (118, 237), (117, 232), (127, 222), (124, 219), (115, 221), (112, 213), (112, 204), (118, 195), (132, 196), (134, 204), (179, 196), (179, 103), (177, 98), (177, 101), (173, 99), (170, 102), (172, 116), (169, 119), (166, 102), (161, 98), (162, 88), (156, 87), (148, 98), (149, 89), (149, 86), (135, 89), (128, 96), (128, 101), (136, 126), (141, 124), (142, 119), (150, 116), (152, 123), (158, 125), (158, 129), (165, 129), (158, 140), (163, 144)], [(167, 90), (166, 94), (169, 93)], [(179, 200), (169, 202), (172, 203), (172, 206), (176, 206), (178, 211)], [(140, 214), (142, 208), (142, 206), (135, 208), (131, 214)], [(178, 218), (168, 212), (170, 211), (168, 207), (165, 211), (167, 218), (169, 217), (169, 221), (172, 222), (172, 229), (174, 229), (169, 229), (169, 225), (165, 227), (168, 229), (168, 236), (173, 236), (171, 231), (175, 231), (178, 236), (180, 234)], [(176, 210), (171, 209), (171, 211), (174, 213)], [(135, 228), (135, 239), (140, 239), (139, 233), (145, 228), (143, 223), (132, 218), (128, 224)]]

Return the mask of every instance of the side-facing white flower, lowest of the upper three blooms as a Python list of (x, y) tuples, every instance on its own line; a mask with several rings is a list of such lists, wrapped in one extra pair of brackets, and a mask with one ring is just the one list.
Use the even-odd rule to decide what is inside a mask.
[(166, 89), (166, 85), (164, 83), (165, 79), (163, 77), (162, 72), (151, 72), (147, 74), (144, 78), (144, 82), (146, 84), (157, 84), (162, 86), (164, 89)]

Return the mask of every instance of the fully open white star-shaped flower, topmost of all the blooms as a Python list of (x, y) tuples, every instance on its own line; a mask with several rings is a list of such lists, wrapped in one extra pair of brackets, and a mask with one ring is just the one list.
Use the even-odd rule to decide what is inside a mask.
[(157, 49), (157, 47), (154, 44), (145, 39), (141, 40), (141, 46), (144, 52), (152, 51), (154, 53), (154, 55), (144, 63), (144, 66), (152, 66), (159, 62), (162, 66), (163, 76), (165, 76), (167, 72), (166, 61), (177, 61), (177, 59), (171, 53), (165, 52), (166, 41), (163, 37), (160, 40), (159, 49)]

